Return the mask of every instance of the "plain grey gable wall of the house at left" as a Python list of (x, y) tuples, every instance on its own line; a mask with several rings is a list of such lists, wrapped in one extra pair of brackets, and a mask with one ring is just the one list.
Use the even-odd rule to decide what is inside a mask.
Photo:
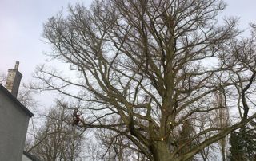
[(30, 117), (0, 90), (0, 160), (22, 160)]

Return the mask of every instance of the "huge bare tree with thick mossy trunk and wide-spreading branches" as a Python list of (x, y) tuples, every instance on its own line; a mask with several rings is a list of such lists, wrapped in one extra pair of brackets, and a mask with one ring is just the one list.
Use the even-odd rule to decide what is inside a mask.
[[(69, 64), (70, 73), (39, 66), (38, 89), (77, 100), (86, 114), (81, 127), (124, 135), (150, 160), (192, 159), (256, 116), (250, 110), (255, 39), (239, 40), (235, 19), (217, 22), (225, 6), (218, 0), (70, 6), (68, 16), (50, 18), (44, 30), (54, 51), (50, 57)], [(212, 104), (216, 92), (226, 93), (226, 108), (240, 117), (227, 127), (198, 129), (198, 114), (221, 108)], [(121, 122), (112, 124), (113, 117)], [(170, 150), (188, 120), (193, 134)]]

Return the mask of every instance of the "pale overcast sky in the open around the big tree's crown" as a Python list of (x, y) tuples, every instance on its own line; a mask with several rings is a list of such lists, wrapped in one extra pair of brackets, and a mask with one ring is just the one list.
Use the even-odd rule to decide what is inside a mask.
[[(242, 29), (256, 22), (255, 0), (224, 0), (228, 6), (222, 16), (240, 18)], [(42, 24), (58, 11), (77, 0), (0, 0), (0, 73), (14, 68), (20, 61), (22, 81), (30, 81), (35, 66), (44, 63), (44, 51), (50, 47), (42, 41)], [(92, 0), (81, 0), (89, 6)]]

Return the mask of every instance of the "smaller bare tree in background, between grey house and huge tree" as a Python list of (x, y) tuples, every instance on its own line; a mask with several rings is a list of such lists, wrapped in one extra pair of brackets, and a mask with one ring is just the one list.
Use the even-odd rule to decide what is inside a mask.
[(83, 131), (70, 126), (70, 118), (60, 104), (51, 108), (26, 151), (42, 160), (82, 160)]

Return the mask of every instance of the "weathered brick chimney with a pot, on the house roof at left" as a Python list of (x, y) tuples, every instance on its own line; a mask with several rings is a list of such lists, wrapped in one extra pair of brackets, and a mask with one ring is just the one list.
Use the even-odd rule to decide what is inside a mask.
[(14, 69), (8, 69), (8, 76), (6, 79), (6, 89), (15, 97), (17, 97), (19, 84), (22, 80), (22, 74), (18, 72), (18, 65), (19, 62), (16, 61)]

